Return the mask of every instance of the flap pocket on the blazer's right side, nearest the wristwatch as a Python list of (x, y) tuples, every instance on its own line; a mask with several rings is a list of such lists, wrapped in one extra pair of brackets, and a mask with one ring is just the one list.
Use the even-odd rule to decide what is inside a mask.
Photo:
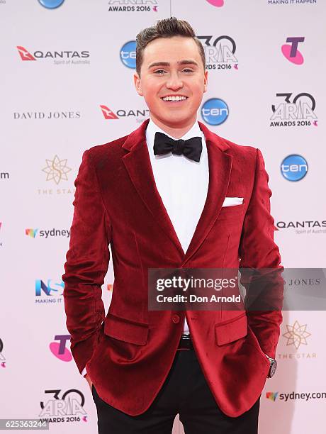
[(236, 318), (232, 318), (225, 323), (215, 324), (215, 340), (217, 345), (225, 345), (240, 338), (244, 338), (248, 333), (247, 314), (242, 313)]

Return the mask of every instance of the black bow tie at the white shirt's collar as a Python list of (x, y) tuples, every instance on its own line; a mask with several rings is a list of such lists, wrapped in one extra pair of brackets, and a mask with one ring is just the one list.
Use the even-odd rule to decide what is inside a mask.
[(203, 145), (201, 144), (201, 137), (193, 137), (188, 140), (174, 140), (168, 135), (157, 131), (155, 133), (153, 148), (154, 155), (164, 155), (172, 152), (174, 155), (184, 154), (190, 160), (199, 162)]

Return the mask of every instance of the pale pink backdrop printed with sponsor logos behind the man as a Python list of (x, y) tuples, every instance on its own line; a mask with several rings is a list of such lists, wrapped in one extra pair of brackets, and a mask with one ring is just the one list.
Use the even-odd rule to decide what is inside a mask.
[[(186, 19), (205, 48), (198, 120), (262, 150), (283, 265), (300, 269), (286, 283), (321, 284), (304, 270), (326, 264), (325, 14), (322, 0), (0, 0), (0, 418), (97, 432), (62, 298), (74, 179), (84, 150), (149, 117), (135, 36), (160, 18)], [(106, 311), (112, 285), (110, 265)], [(326, 432), (325, 340), (324, 311), (283, 312), (260, 433)]]

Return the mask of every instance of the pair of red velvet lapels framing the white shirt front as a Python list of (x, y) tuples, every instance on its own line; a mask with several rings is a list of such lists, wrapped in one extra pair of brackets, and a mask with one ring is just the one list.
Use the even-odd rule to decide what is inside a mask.
[(179, 250), (182, 257), (182, 267), (201, 246), (216, 218), (218, 218), (230, 181), (232, 156), (224, 152), (230, 147), (218, 135), (199, 122), (205, 135), (208, 151), (208, 192), (201, 217), (185, 253), (155, 184), (145, 138), (148, 122), (149, 119), (143, 122), (137, 130), (128, 135), (125, 143), (123, 143), (122, 148), (128, 151), (123, 156), (123, 163), (140, 198), (152, 213), (155, 221)]

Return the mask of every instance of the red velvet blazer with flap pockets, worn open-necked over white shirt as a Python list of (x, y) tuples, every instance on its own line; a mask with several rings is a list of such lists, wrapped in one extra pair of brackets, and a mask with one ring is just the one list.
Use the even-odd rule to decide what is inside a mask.
[[(72, 355), (101, 399), (139, 415), (167, 377), (186, 315), (218, 406), (240, 416), (262, 393), (269, 372), (264, 353), (275, 355), (281, 311), (148, 311), (147, 269), (281, 268), (262, 153), (199, 123), (208, 149), (208, 195), (184, 253), (154, 182), (147, 123), (83, 155), (62, 276)], [(222, 207), (225, 196), (244, 203)], [(115, 281), (105, 316), (101, 285), (109, 243)]]

